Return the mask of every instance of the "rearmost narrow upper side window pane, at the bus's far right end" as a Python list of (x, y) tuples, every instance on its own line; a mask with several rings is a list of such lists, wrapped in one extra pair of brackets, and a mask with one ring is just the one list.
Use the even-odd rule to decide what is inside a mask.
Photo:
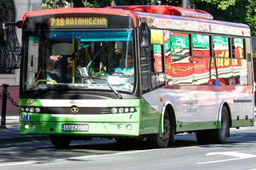
[(244, 58), (245, 57), (245, 42), (242, 38), (233, 38), (233, 53), (235, 58)]

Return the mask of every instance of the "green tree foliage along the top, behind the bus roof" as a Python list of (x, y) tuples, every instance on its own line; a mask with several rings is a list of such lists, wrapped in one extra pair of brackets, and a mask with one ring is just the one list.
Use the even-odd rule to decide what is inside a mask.
[[(44, 9), (66, 6), (72, 0), (42, 0)], [(111, 6), (113, 0), (73, 0), (74, 6), (104, 7)], [(114, 0), (117, 6), (146, 5), (151, 0)], [(181, 0), (155, 0), (157, 5), (182, 6)], [(206, 10), (214, 19), (241, 22), (248, 24), (253, 35), (256, 35), (256, 0), (190, 0), (193, 9)]]

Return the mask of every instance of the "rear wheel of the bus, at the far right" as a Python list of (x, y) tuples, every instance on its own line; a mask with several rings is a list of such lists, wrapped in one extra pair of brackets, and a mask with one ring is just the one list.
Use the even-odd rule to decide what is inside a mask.
[(223, 144), (230, 135), (229, 113), (225, 106), (222, 108), (222, 128), (214, 129), (212, 132), (212, 140), (214, 144)]

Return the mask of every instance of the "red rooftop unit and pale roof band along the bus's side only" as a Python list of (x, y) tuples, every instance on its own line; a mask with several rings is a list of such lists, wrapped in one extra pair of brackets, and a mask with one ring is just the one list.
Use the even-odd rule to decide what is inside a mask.
[(246, 24), (214, 20), (211, 14), (203, 10), (177, 6), (110, 6), (108, 8), (132, 10), (138, 18), (144, 18), (151, 28), (250, 37), (250, 27)]

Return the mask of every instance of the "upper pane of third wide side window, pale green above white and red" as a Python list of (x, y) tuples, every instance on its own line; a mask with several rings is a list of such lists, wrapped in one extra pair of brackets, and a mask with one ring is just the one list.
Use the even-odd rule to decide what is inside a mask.
[(214, 36), (214, 57), (230, 57), (229, 38)]

